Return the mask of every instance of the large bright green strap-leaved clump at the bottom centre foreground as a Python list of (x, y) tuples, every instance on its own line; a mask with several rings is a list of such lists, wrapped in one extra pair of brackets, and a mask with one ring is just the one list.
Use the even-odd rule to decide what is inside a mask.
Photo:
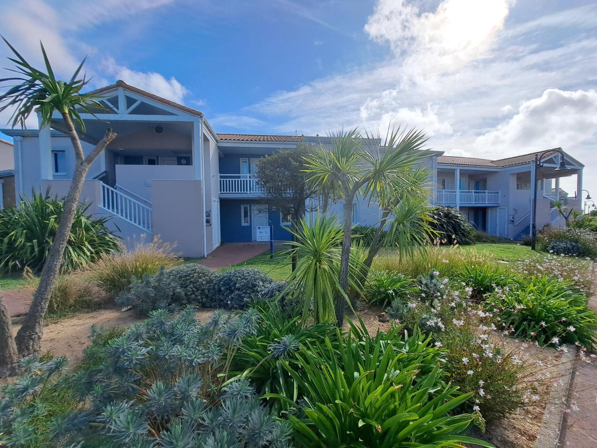
[[(432, 354), (404, 354), (382, 340), (373, 340), (373, 351), (364, 344), (364, 351), (350, 335), (346, 341), (338, 355), (327, 343), (301, 346), (300, 369), (282, 361), (306, 391), (304, 416), (289, 416), (299, 446), (491, 446), (461, 435), (477, 417), (448, 413), (472, 392), (445, 386)], [(291, 401), (279, 394), (266, 397)]]

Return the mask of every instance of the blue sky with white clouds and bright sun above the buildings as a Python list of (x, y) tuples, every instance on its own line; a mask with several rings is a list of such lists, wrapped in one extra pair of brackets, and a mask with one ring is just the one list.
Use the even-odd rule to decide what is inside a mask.
[(33, 62), (39, 39), (65, 77), (88, 55), (94, 87), (124, 79), (220, 132), (395, 122), (451, 155), (562, 146), (594, 196), (596, 24), (589, 1), (0, 1), (2, 34)]

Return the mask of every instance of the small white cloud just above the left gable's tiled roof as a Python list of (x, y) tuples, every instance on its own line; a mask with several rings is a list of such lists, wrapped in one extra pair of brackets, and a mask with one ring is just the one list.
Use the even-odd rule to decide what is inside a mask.
[(137, 72), (116, 64), (112, 58), (104, 60), (102, 66), (105, 72), (110, 73), (115, 79), (122, 79), (127, 84), (176, 103), (184, 103), (184, 97), (189, 94), (187, 88), (180, 84), (174, 76), (166, 79), (156, 72)]

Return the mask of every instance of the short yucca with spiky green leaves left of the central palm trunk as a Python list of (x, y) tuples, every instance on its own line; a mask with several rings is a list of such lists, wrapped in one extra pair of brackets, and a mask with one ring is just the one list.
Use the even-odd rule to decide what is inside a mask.
[[(288, 291), (302, 297), (303, 317), (312, 310), (315, 322), (329, 321), (334, 317), (337, 294), (348, 299), (339, 281), (342, 229), (335, 217), (322, 214), (315, 217), (312, 225), (303, 218), (296, 227), (296, 230), (291, 229), (296, 241), (289, 244), (298, 249), (300, 258), (290, 275)], [(355, 255), (353, 253), (352, 269), (359, 268)], [(361, 290), (353, 278), (354, 275), (349, 276), (350, 286)]]

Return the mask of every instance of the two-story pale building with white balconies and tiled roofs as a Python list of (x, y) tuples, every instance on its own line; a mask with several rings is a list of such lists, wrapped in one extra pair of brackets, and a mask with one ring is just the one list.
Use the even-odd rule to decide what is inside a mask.
[[(204, 256), (221, 241), (257, 240), (259, 226), (272, 226), (275, 240), (290, 238), (287, 219), (266, 203), (257, 185), (256, 160), (298, 142), (330, 147), (330, 137), (221, 134), (201, 112), (122, 81), (95, 93), (105, 109), (94, 115), (81, 111), (84, 151), (91, 151), (107, 127), (118, 137), (91, 166), (82, 198), (93, 213), (112, 216), (125, 240), (159, 235), (176, 242), (184, 256)], [(19, 195), (47, 188), (66, 194), (74, 154), (61, 131), (58, 113), (41, 130), (2, 130), (14, 139)], [(558, 171), (559, 155), (547, 153), (534, 179), (534, 154), (494, 161), (442, 154), (429, 151), (423, 160), (432, 173), (431, 201), (460, 209), (489, 234), (528, 234), (534, 185), (540, 189), (539, 227), (558, 221), (550, 205), (558, 195), (567, 196), (559, 193), (560, 177), (576, 174), (577, 192), (581, 189), (583, 165), (568, 155), (570, 169)], [(567, 200), (580, 208), (577, 197)], [(357, 201), (353, 221), (375, 225), (379, 214), (375, 205)]]

